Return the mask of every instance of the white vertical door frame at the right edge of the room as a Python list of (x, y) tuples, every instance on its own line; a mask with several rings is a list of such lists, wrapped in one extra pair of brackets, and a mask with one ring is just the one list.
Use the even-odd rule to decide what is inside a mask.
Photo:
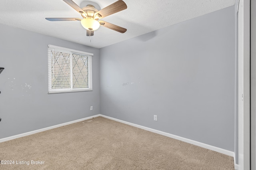
[(250, 0), (238, 1), (238, 164), (250, 170)]

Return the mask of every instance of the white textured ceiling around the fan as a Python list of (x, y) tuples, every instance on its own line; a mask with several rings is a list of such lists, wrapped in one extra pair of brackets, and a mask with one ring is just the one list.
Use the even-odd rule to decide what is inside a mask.
[[(78, 6), (84, 0), (73, 0)], [(91, 0), (100, 8), (117, 0)], [(235, 0), (123, 0), (127, 9), (102, 20), (124, 27), (124, 34), (100, 27), (94, 36), (78, 21), (50, 22), (45, 18), (82, 18), (62, 0), (1, 0), (0, 23), (101, 48), (235, 4)], [(80, 6), (81, 8), (84, 6)]]

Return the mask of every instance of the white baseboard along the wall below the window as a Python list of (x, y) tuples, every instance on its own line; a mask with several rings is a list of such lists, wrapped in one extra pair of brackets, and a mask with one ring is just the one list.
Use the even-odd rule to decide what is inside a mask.
[(83, 119), (78, 119), (78, 120), (75, 120), (75, 121), (71, 121), (71, 122), (67, 122), (67, 123), (62, 123), (62, 124), (59, 124), (59, 125), (54, 125), (54, 126), (51, 126), (51, 127), (41, 128), (41, 129), (34, 130), (34, 131), (31, 131), (31, 132), (17, 134), (17, 135), (10, 136), (10, 137), (7, 137), (7, 138), (2, 138), (2, 139), (0, 139), (0, 142), (5, 142), (5, 141), (8, 141), (8, 140), (20, 138), (20, 137), (23, 137), (23, 136), (28, 136), (30, 134), (35, 134), (35, 133), (38, 133), (38, 132), (43, 132), (45, 130), (50, 130), (50, 129), (57, 128), (57, 127), (62, 127), (62, 126), (65, 126), (65, 125), (70, 125), (72, 123), (77, 123), (77, 122), (84, 121), (84, 120), (87, 120), (87, 119), (92, 119), (92, 118), (98, 117), (98, 116), (100, 116), (100, 115), (90, 116), (90, 117), (86, 117), (86, 118), (83, 118)]

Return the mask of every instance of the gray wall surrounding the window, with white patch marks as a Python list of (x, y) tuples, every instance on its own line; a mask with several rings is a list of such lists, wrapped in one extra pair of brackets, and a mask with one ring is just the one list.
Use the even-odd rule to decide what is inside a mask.
[[(48, 94), (48, 44), (94, 53), (93, 91)], [(0, 138), (100, 113), (99, 49), (0, 24), (0, 67)]]

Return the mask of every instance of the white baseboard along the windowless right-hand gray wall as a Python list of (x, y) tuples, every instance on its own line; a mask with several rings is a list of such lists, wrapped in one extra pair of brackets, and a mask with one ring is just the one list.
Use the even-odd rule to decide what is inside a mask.
[(218, 147), (215, 147), (215, 146), (211, 146), (211, 145), (208, 145), (208, 144), (204, 144), (204, 143), (201, 143), (201, 142), (197, 142), (195, 140), (190, 140), (190, 139), (187, 139), (187, 138), (183, 138), (183, 137), (180, 137), (180, 136), (176, 136), (174, 134), (170, 134), (170, 133), (166, 133), (166, 132), (162, 132), (160, 130), (155, 130), (155, 129), (152, 129), (152, 128), (148, 128), (148, 127), (144, 127), (144, 126), (140, 126), (140, 125), (136, 125), (134, 123), (129, 123), (129, 122), (126, 122), (126, 121), (122, 121), (122, 120), (119, 120), (119, 119), (115, 119), (115, 118), (112, 118), (112, 117), (108, 117), (108, 116), (105, 116), (105, 115), (100, 115), (101, 117), (105, 117), (107, 119), (111, 119), (113, 121), (118, 121), (120, 123), (124, 123), (124, 124), (127, 124), (127, 125), (131, 125), (133, 127), (138, 127), (138, 128), (142, 128), (144, 130), (148, 130), (150, 132), (154, 132), (154, 133), (157, 133), (157, 134), (162, 134), (164, 136), (168, 136), (170, 138), (174, 138), (174, 139), (177, 139), (177, 140), (181, 140), (183, 142), (187, 142), (187, 143), (190, 143), (190, 144), (194, 144), (196, 146), (200, 146), (202, 148), (206, 148), (206, 149), (210, 149), (210, 150), (213, 150), (215, 152), (219, 152), (219, 153), (222, 153), (222, 154), (225, 154), (225, 155), (228, 155), (228, 156), (232, 156), (234, 157), (234, 152), (232, 151), (229, 151), (229, 150), (225, 150), (225, 149), (222, 149), (222, 148), (218, 148)]

